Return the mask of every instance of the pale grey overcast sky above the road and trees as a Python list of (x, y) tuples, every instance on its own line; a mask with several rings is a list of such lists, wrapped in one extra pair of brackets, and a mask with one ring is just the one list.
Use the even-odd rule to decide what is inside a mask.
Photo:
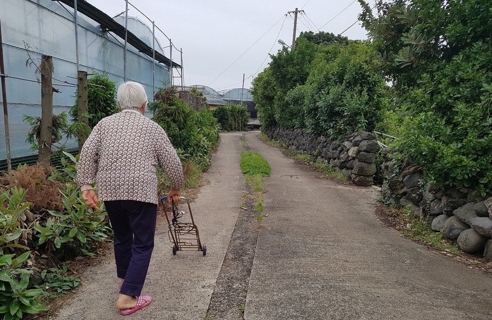
[[(125, 0), (87, 2), (111, 17), (125, 11)], [(353, 0), (131, 0), (130, 4), (183, 49), (184, 85), (205, 85), (217, 91), (241, 88), (243, 74), (244, 88), (250, 88), (253, 78), (268, 65), (268, 53), (282, 48), (277, 40), (292, 45), (294, 14), (289, 11), (304, 10), (298, 14), (296, 35), (318, 30), (339, 34), (361, 12)], [(128, 14), (152, 28), (152, 22), (131, 5)], [(367, 39), (360, 22), (342, 35)], [(157, 38), (163, 47), (168, 45), (160, 32)], [(169, 56), (168, 48), (164, 52)], [(177, 51), (172, 56), (181, 62)]]

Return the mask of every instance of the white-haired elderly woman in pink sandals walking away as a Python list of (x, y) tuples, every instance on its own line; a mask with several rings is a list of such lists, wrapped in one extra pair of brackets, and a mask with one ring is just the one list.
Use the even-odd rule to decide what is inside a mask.
[(152, 301), (151, 296), (140, 294), (154, 248), (159, 199), (156, 167), (162, 167), (170, 179), (168, 202), (180, 201), (184, 179), (181, 161), (166, 133), (144, 116), (144, 87), (135, 82), (122, 84), (118, 105), (121, 112), (102, 119), (85, 142), (77, 183), (87, 205), (98, 209), (102, 200), (108, 211), (121, 278), (116, 308), (126, 315)]

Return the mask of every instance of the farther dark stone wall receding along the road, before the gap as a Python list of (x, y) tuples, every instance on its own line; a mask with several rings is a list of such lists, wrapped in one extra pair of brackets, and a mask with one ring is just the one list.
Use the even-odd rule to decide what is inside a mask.
[(360, 131), (347, 136), (342, 141), (331, 140), (325, 136), (314, 136), (303, 129), (285, 127), (262, 128), (268, 138), (283, 141), (290, 149), (312, 155), (317, 161), (332, 164), (342, 170), (350, 180), (359, 186), (369, 186), (376, 172), (376, 136)]

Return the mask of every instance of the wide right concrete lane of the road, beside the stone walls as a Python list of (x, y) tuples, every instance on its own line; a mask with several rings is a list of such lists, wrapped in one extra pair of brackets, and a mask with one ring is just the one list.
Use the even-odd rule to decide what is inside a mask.
[(244, 319), (492, 319), (492, 278), (381, 226), (374, 189), (246, 139), (272, 175)]

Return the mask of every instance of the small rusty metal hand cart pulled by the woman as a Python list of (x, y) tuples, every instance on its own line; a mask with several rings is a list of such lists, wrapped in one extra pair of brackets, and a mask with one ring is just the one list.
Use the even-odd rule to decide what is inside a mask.
[[(165, 211), (167, 219), (167, 225), (169, 231), (169, 241), (172, 243), (172, 254), (175, 255), (178, 251), (201, 251), (203, 255), (207, 254), (207, 245), (201, 243), (198, 228), (193, 220), (193, 214), (191, 212), (190, 201), (187, 198), (181, 197), (188, 204), (188, 212), (179, 211), (178, 205), (172, 201), (171, 210)], [(162, 197), (161, 201), (167, 200), (166, 197)], [(172, 217), (170, 217), (172, 211)], [(189, 214), (189, 216), (188, 216)]]

